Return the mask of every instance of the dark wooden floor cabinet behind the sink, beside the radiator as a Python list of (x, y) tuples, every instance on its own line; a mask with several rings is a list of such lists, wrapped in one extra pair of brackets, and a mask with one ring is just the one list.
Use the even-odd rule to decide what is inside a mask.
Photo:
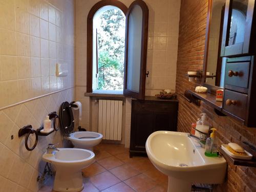
[(130, 156), (146, 154), (147, 137), (155, 131), (177, 131), (178, 100), (145, 97), (132, 100)]

